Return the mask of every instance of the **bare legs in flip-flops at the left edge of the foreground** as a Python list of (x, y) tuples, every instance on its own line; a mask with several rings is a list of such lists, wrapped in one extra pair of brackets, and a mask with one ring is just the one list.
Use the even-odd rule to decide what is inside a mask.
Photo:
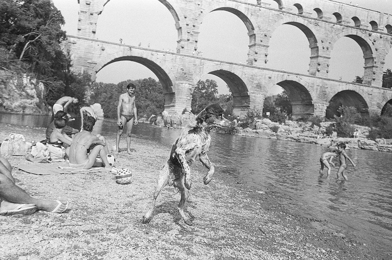
[(58, 200), (43, 200), (30, 197), (24, 190), (15, 185), (11, 175), (11, 165), (4, 157), (0, 157), (0, 215), (31, 214), (37, 209), (54, 213), (62, 213), (68, 209), (69, 203)]

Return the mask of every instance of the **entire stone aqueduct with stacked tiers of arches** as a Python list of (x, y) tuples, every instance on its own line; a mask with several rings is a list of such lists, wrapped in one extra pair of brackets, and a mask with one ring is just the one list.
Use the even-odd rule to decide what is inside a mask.
[[(191, 107), (192, 91), (205, 74), (223, 79), (232, 91), (234, 114), (262, 108), (265, 94), (280, 85), (290, 95), (293, 116), (324, 116), (334, 98), (363, 112), (380, 114), (392, 103), (392, 90), (381, 88), (384, 59), (392, 46), (392, 16), (332, 0), (274, 0), (278, 9), (261, 0), (158, 0), (171, 12), (178, 31), (177, 49), (165, 52), (95, 40), (99, 14), (110, 0), (78, 0), (78, 35), (67, 36), (65, 47), (73, 69), (96, 72), (122, 60), (141, 63), (160, 80), (165, 110), (175, 113)], [(245, 1), (245, 0), (244, 0)], [(224, 10), (238, 16), (249, 35), (247, 64), (192, 56), (198, 47), (200, 24), (206, 14)], [(312, 17), (316, 12), (317, 18)], [(309, 75), (268, 68), (269, 39), (282, 24), (298, 27), (308, 38)], [(330, 52), (341, 37), (355, 40), (363, 51), (363, 84), (328, 79)]]

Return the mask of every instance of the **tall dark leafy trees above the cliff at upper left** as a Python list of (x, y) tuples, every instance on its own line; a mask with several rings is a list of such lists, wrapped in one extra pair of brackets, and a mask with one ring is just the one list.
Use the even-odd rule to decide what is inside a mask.
[(62, 96), (83, 101), (91, 81), (88, 74), (70, 70), (69, 54), (60, 46), (64, 23), (51, 0), (0, 0), (0, 66), (44, 83), (48, 105)]

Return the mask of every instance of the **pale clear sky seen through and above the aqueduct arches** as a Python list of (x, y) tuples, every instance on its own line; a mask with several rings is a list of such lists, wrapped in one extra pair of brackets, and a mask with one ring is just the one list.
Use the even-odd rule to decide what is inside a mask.
[[(247, 0), (244, 0), (244, 2)], [(256, 0), (248, 0), (253, 3)], [(299, 0), (305, 2), (307, 0)], [(65, 19), (63, 29), (69, 35), (77, 35), (77, 0), (53, 0)], [(273, 0), (263, 0), (277, 8)], [(391, 0), (340, 0), (375, 11), (392, 14)], [(314, 14), (316, 15), (316, 13)], [(316, 16), (315, 16), (316, 17)], [(97, 22), (96, 38), (110, 42), (142, 47), (150, 44), (151, 49), (168, 49), (175, 52), (177, 31), (169, 10), (158, 0), (111, 0), (105, 5)], [(214, 11), (206, 15), (200, 26), (198, 50), (204, 58), (246, 64), (249, 36), (244, 23), (227, 11)], [(309, 42), (297, 27), (281, 25), (272, 33), (269, 43), (267, 67), (301, 74), (308, 74)], [(358, 62), (360, 61), (360, 62)], [(385, 59), (385, 68), (392, 68), (392, 52)], [(343, 37), (331, 52), (329, 78), (353, 81), (363, 76), (363, 52), (354, 40)], [(115, 83), (127, 79), (158, 78), (143, 65), (132, 61), (118, 61), (107, 65), (97, 73), (96, 81)], [(219, 94), (228, 94), (226, 83), (217, 76), (208, 74), (203, 79), (214, 79)], [(268, 95), (278, 94), (283, 89), (274, 86)]]

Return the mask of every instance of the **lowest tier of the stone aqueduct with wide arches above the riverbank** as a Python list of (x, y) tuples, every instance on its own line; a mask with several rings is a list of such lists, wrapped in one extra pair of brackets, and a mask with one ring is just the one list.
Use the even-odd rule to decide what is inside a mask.
[(386, 88), (81, 36), (67, 36), (63, 45), (71, 53), (73, 70), (88, 71), (93, 78), (96, 72), (116, 61), (129, 60), (146, 66), (162, 83), (165, 110), (171, 114), (191, 108), (194, 86), (206, 74), (218, 76), (227, 83), (234, 100), (234, 113), (237, 115), (245, 115), (251, 107), (262, 109), (266, 94), (274, 85), (281, 86), (290, 95), (295, 117), (305, 114), (324, 116), (330, 100), (338, 93), (340, 99), (345, 98), (345, 93), (351, 93), (347, 96), (347, 102), (358, 98), (361, 107), (377, 114), (392, 99), (392, 90)]

